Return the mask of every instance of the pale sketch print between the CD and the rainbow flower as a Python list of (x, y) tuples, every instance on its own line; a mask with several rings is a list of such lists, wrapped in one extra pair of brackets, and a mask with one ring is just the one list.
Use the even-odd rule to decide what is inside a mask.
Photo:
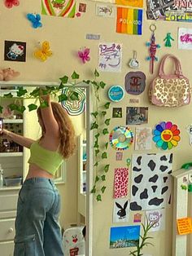
[(136, 127), (135, 150), (151, 149), (151, 132), (150, 127)]

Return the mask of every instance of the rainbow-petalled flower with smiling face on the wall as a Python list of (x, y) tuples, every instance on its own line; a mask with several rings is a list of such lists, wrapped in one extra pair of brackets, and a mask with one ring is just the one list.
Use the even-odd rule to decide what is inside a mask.
[(159, 125), (155, 126), (153, 130), (153, 141), (158, 148), (172, 149), (177, 147), (180, 141), (180, 130), (177, 129), (177, 125), (173, 125), (171, 121), (162, 121)]

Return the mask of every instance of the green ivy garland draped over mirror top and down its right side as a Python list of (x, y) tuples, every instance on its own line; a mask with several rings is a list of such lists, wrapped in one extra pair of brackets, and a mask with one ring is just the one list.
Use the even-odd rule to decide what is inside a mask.
[[(106, 86), (106, 83), (103, 81), (98, 81), (99, 73), (95, 69), (94, 79), (93, 80), (83, 80), (89, 86), (92, 86), (94, 90), (94, 112), (91, 113), (93, 117), (93, 122), (91, 124), (91, 130), (94, 130), (94, 170), (95, 170), (95, 179), (94, 186), (91, 189), (91, 192), (96, 196), (97, 201), (102, 201), (102, 195), (106, 190), (104, 182), (106, 181), (106, 174), (109, 170), (109, 164), (106, 163), (108, 158), (107, 148), (108, 148), (108, 139), (106, 135), (109, 134), (108, 126), (110, 125), (110, 118), (107, 118), (107, 109), (110, 106), (110, 102), (100, 104), (100, 90), (103, 90)], [(17, 87), (17, 89), (7, 94), (3, 94), (0, 98), (4, 99), (15, 99), (14, 103), (9, 104), (7, 107), (11, 111), (17, 111), (19, 113), (24, 113), (26, 110), (25, 106), (21, 103), (24, 99), (34, 99), (33, 104), (28, 104), (28, 111), (31, 112), (38, 108), (37, 100), (40, 100), (41, 108), (46, 108), (48, 103), (46, 100), (41, 99), (40, 95), (55, 95), (55, 98), (58, 96), (58, 102), (63, 102), (65, 100), (78, 100), (79, 95), (76, 92), (76, 87), (81, 83), (79, 81), (80, 76), (75, 71), (72, 73), (71, 79), (64, 75), (59, 78), (59, 86), (45, 86), (44, 88), (37, 87), (31, 92), (28, 92), (23, 86)], [(66, 95), (63, 93), (63, 88), (68, 86), (69, 93)], [(1, 88), (0, 88), (1, 91)], [(22, 99), (22, 100), (21, 100)], [(2, 113), (3, 107), (0, 104), (0, 113)], [(104, 163), (105, 162), (105, 163)]]

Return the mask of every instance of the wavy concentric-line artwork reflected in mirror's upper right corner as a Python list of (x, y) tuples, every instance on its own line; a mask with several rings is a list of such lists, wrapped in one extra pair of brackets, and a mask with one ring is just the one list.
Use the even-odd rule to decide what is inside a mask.
[[(79, 99), (71, 100), (68, 97), (68, 99), (63, 100), (61, 104), (63, 108), (66, 109), (69, 115), (78, 116), (85, 111), (85, 101), (86, 101), (85, 90), (81, 88), (75, 88), (74, 91), (78, 93)], [(64, 88), (62, 91), (62, 93), (67, 96), (70, 94), (70, 92), (71, 90), (69, 90), (68, 88)]]

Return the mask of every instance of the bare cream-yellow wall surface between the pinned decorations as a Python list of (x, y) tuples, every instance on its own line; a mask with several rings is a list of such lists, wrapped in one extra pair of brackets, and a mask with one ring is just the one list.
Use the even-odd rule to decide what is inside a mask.
[[(83, 1), (85, 2), (85, 1)], [(80, 73), (82, 79), (91, 78), (91, 74), (94, 68), (98, 67), (98, 41), (86, 40), (86, 33), (98, 33), (101, 35), (100, 42), (118, 42), (123, 44), (123, 60), (121, 73), (102, 73), (101, 77), (104, 82), (107, 82), (107, 88), (114, 84), (124, 86), (124, 76), (130, 72), (128, 67), (128, 61), (133, 56), (133, 50), (137, 51), (137, 59), (140, 60), (140, 70), (146, 73), (146, 90), (139, 96), (140, 106), (149, 107), (149, 123), (147, 126), (152, 128), (159, 121), (172, 121), (176, 123), (181, 130), (181, 142), (177, 148), (172, 149), (173, 152), (173, 170), (177, 170), (180, 166), (188, 161), (191, 161), (191, 147), (189, 145), (188, 135), (185, 131), (185, 127), (192, 122), (191, 104), (182, 108), (157, 108), (151, 106), (148, 101), (147, 89), (153, 77), (157, 74), (158, 64), (155, 63), (155, 73), (151, 75), (149, 73), (149, 63), (145, 58), (148, 55), (148, 49), (145, 43), (149, 41), (151, 37), (151, 31), (149, 26), (151, 20), (146, 20), (145, 10), (143, 15), (143, 33), (142, 36), (127, 35), (116, 33), (116, 18), (103, 18), (95, 15), (95, 2), (87, 2), (87, 12), (76, 19), (62, 19), (57, 17), (42, 16), (43, 27), (41, 29), (33, 29), (29, 24), (25, 15), (28, 12), (40, 13), (41, 1), (40, 0), (28, 0), (20, 1), (20, 7), (14, 7), (8, 10), (0, 3), (0, 45), (1, 45), (1, 68), (15, 68), (20, 71), (20, 77), (17, 79), (20, 81), (53, 81), (58, 82), (59, 77), (63, 77), (63, 74), (72, 74), (73, 70)], [(157, 56), (159, 59), (167, 53), (177, 55), (181, 60), (183, 73), (186, 77), (192, 79), (190, 60), (192, 56), (191, 51), (181, 51), (177, 49), (177, 29), (178, 27), (190, 28), (191, 24), (177, 23), (177, 22), (156, 22), (156, 42), (161, 45), (161, 48), (157, 50)], [(172, 33), (172, 37), (175, 42), (172, 43), (172, 48), (165, 48), (163, 39), (168, 32)], [(3, 60), (3, 47), (4, 40), (15, 40), (27, 42), (27, 61), (26, 63), (20, 62), (7, 62)], [(37, 42), (48, 40), (50, 42), (51, 49), (54, 51), (54, 55), (45, 63), (33, 58), (34, 47)], [(76, 58), (76, 51), (81, 47), (90, 47), (91, 60), (87, 64), (81, 64)], [(107, 89), (106, 89), (107, 90)], [(103, 99), (107, 99), (106, 95), (103, 95)], [(122, 119), (112, 119), (109, 130), (117, 125), (125, 125), (125, 108), (129, 105), (129, 96), (125, 94), (124, 99), (120, 104), (111, 104), (112, 107), (123, 108)], [(111, 109), (109, 111), (109, 117), (111, 117)], [(134, 130), (134, 127), (133, 127)], [(116, 152), (112, 148), (108, 150), (111, 162), (111, 169), (107, 174), (107, 191), (103, 196), (103, 202), (94, 202), (94, 256), (106, 255), (106, 256), (124, 256), (129, 254), (129, 249), (109, 249), (109, 232), (112, 223), (112, 210), (113, 210), (113, 179), (114, 168), (119, 166), (125, 166), (126, 158), (131, 157), (133, 147), (124, 152), (124, 159), (119, 164), (115, 161)], [(153, 148), (151, 152), (160, 152)], [(130, 179), (129, 179), (130, 188)], [(130, 194), (130, 193), (129, 193)], [(71, 195), (73, 196), (73, 195)], [(63, 207), (70, 207), (63, 206)], [(148, 247), (147, 252), (154, 256), (171, 256), (172, 247), (172, 207), (166, 209), (166, 230), (164, 232), (152, 233), (155, 236), (153, 240), (154, 247)], [(106, 218), (107, 216), (107, 218)], [(131, 216), (130, 216), (131, 219)], [(191, 239), (190, 239), (190, 244)], [(192, 255), (192, 249), (187, 256)]]

